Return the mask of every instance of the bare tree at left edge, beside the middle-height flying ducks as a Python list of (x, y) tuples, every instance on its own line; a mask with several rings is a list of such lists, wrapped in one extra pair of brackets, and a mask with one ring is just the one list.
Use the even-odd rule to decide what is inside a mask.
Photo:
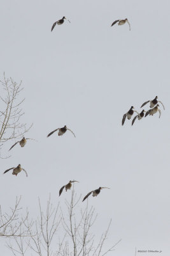
[[(20, 118), (24, 115), (24, 112), (20, 108), (22, 102), (25, 99), (19, 100), (19, 94), (23, 90), (21, 88), (22, 81), (17, 84), (13, 79), (6, 79), (3, 77), (3, 81), (0, 81), (1, 93), (0, 93), (0, 149), (3, 143), (15, 138), (21, 138), (25, 132), (29, 131), (30, 127), (26, 127), (26, 124), (20, 122)], [(4, 96), (3, 96), (4, 95)]]

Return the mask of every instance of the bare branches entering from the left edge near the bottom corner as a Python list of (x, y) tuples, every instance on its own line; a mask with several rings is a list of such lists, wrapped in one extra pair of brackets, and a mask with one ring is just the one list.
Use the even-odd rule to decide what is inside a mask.
[(25, 230), (24, 223), (28, 218), (28, 213), (22, 219), (20, 214), (22, 208), (19, 207), (20, 200), (21, 197), (16, 199), (15, 206), (10, 209), (10, 214), (3, 213), (0, 205), (0, 237), (26, 236), (27, 230)]

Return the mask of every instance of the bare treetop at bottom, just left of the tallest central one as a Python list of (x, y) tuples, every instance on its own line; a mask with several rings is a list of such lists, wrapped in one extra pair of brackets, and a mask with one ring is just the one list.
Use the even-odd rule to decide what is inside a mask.
[[(13, 252), (13, 255), (26, 255), (27, 249), (29, 252), (42, 255), (53, 255), (52, 241), (57, 232), (61, 218), (57, 215), (59, 210), (59, 204), (57, 207), (53, 207), (51, 199), (46, 204), (45, 213), (41, 209), (41, 203), (39, 202), (39, 217), (34, 221), (34, 225), (29, 222), (27, 218), (25, 221), (25, 228), (27, 230), (27, 237), (13, 237), (15, 241), (15, 247), (10, 239), (8, 248)], [(32, 228), (33, 227), (33, 228)], [(28, 252), (28, 255), (30, 255)]]

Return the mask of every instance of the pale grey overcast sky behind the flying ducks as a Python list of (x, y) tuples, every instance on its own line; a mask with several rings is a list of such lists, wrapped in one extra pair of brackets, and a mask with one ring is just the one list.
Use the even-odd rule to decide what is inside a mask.
[[(58, 197), (70, 179), (82, 197), (89, 197), (98, 218), (94, 233), (112, 224), (108, 244), (122, 242), (108, 255), (131, 256), (137, 250), (170, 253), (169, 207), (169, 1), (50, 0), (0, 1), (3, 72), (22, 80), (23, 122), (34, 123), (24, 148), (16, 145), (1, 159), (1, 173), (19, 163), (27, 170), (1, 176), (1, 206), (5, 211), (22, 195), (22, 207), (38, 214), (38, 196), (46, 204)], [(66, 16), (71, 23), (52, 24)], [(111, 27), (117, 19), (131, 23)], [(1, 91), (1, 93), (3, 93)], [(122, 116), (131, 106), (140, 111), (155, 96), (164, 103), (159, 113), (136, 120)], [(145, 110), (149, 109), (149, 104)], [(67, 125), (63, 136), (54, 133)], [(4, 154), (14, 141), (6, 142)], [(83, 203), (78, 207), (83, 207)], [(98, 225), (97, 225), (98, 223)], [(1, 253), (11, 255), (1, 239)], [(136, 255), (153, 255), (137, 253)]]

